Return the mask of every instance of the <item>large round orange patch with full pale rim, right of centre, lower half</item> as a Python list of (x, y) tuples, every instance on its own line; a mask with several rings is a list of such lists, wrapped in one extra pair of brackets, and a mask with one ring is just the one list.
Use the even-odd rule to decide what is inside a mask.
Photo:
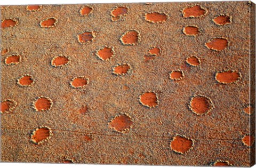
[(196, 95), (190, 99), (189, 109), (197, 115), (205, 115), (214, 108), (210, 98)]

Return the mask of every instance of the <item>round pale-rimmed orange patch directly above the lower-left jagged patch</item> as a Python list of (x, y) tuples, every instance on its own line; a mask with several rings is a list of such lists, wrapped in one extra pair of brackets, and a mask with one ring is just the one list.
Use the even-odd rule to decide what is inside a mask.
[(38, 97), (37, 99), (35, 99), (35, 101), (33, 102), (33, 108), (36, 111), (46, 111), (46, 110), (50, 110), (52, 108), (52, 100), (48, 97)]

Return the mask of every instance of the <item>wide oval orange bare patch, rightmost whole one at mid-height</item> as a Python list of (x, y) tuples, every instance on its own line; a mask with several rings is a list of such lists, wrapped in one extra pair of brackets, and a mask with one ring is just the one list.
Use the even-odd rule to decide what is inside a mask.
[(241, 74), (236, 71), (222, 71), (216, 73), (215, 79), (221, 84), (229, 84), (237, 82), (241, 78)]

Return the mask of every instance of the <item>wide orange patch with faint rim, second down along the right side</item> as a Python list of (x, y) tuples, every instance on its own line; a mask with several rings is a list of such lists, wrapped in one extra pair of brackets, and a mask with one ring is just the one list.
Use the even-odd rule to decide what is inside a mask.
[(205, 43), (205, 45), (210, 50), (221, 51), (226, 49), (228, 41), (226, 38), (217, 37), (213, 38), (212, 41)]

